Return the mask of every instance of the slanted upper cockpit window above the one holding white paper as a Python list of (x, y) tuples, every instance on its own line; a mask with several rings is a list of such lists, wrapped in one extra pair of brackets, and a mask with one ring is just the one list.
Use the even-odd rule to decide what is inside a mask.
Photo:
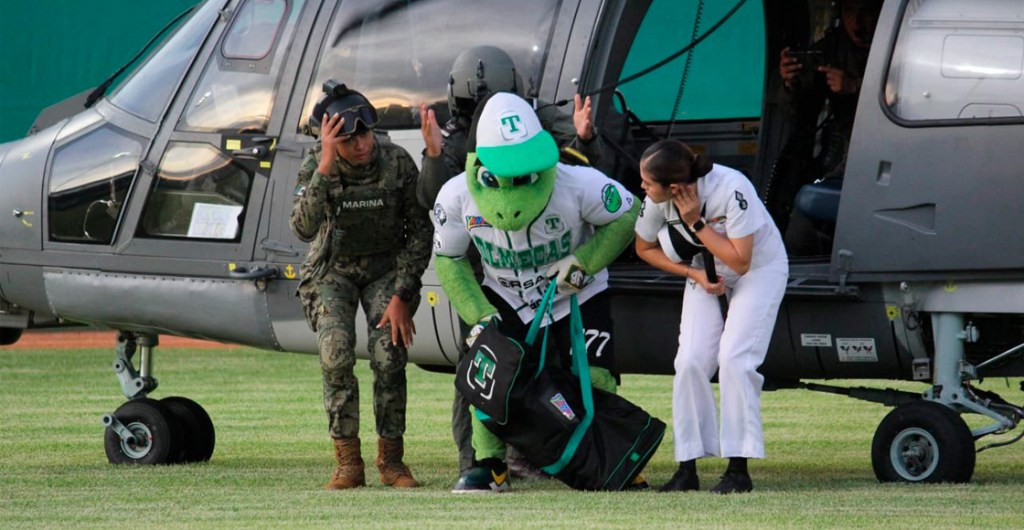
[(249, 0), (203, 73), (179, 131), (266, 132), (304, 0)]

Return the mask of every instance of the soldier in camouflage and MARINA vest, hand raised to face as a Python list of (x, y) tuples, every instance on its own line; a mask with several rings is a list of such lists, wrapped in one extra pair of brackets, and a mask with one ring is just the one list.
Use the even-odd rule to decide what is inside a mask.
[(416, 487), (402, 462), (407, 348), (420, 277), (430, 260), (431, 224), (416, 200), (418, 170), (403, 148), (374, 134), (377, 112), (344, 85), (328, 82), (311, 122), (318, 148), (299, 171), (292, 230), (311, 241), (299, 296), (316, 332), (324, 406), (338, 468), (327, 489), (366, 485), (359, 448), (355, 312), (370, 323), (370, 366), (381, 483)]

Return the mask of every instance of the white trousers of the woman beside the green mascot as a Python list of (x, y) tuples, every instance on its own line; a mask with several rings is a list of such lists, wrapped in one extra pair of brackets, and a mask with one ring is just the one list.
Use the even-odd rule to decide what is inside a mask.
[[(785, 293), (784, 260), (726, 277), (729, 313), (724, 321), (717, 297), (688, 281), (679, 322), (679, 350), (672, 388), (676, 460), (702, 456), (764, 458), (761, 384), (778, 306)], [(718, 369), (722, 398), (719, 436), (711, 378)]]

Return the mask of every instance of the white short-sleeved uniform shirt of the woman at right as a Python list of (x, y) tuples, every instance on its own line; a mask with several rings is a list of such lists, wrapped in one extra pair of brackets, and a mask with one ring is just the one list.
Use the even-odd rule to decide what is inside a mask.
[[(714, 165), (710, 173), (697, 179), (697, 196), (705, 205), (705, 222), (710, 228), (732, 239), (754, 234), (751, 270), (773, 263), (785, 266), (785, 248), (778, 228), (761, 204), (754, 185), (742, 173)], [(681, 223), (672, 201), (657, 204), (646, 197), (637, 219), (637, 236), (645, 241), (657, 241), (658, 230), (668, 224), (670, 230), (678, 230), (683, 237), (694, 242)], [(715, 260), (715, 269), (720, 274), (736, 275), (718, 259)]]

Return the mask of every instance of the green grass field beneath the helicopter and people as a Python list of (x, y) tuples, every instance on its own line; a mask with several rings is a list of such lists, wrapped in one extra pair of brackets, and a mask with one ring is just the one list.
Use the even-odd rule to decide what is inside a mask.
[[(370, 487), (326, 492), (333, 457), (317, 359), (248, 349), (158, 351), (153, 397), (183, 395), (207, 408), (217, 427), (210, 462), (112, 466), (99, 418), (123, 401), (113, 359), (113, 348), (0, 349), (0, 528), (935, 529), (1020, 528), (1024, 516), (1021, 445), (979, 454), (971, 484), (879, 484), (869, 447), (888, 409), (806, 391), (764, 394), (768, 458), (752, 461), (748, 495), (586, 493), (540, 480), (508, 495), (457, 496), (452, 378), (415, 367), (406, 461), (424, 487), (380, 486), (371, 466)], [(365, 361), (357, 369), (372, 458), (372, 378)], [(624, 396), (670, 422), (671, 378), (624, 379)], [(983, 388), (1024, 402), (1016, 380)], [(700, 461), (706, 488), (723, 468)], [(674, 470), (670, 430), (645, 475), (657, 486)]]

